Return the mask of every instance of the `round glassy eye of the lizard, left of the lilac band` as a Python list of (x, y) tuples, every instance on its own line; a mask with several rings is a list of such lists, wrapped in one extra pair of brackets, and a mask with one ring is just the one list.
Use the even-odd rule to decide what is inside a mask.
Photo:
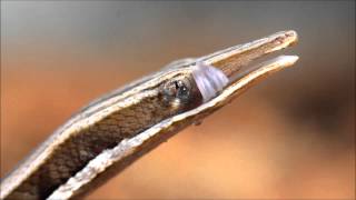
[(164, 86), (164, 94), (167, 100), (188, 101), (191, 86), (188, 79), (171, 80)]

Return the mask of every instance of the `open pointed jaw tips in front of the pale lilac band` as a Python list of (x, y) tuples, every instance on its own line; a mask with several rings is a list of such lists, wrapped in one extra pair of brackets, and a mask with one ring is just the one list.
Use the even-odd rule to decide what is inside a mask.
[[(215, 52), (199, 60), (221, 70), (233, 83), (264, 66), (291, 66), (298, 60), (297, 56), (279, 56), (259, 63), (256, 61), (269, 53), (290, 47), (297, 41), (296, 31), (281, 31), (249, 43)], [(246, 67), (248, 68), (245, 69)]]

